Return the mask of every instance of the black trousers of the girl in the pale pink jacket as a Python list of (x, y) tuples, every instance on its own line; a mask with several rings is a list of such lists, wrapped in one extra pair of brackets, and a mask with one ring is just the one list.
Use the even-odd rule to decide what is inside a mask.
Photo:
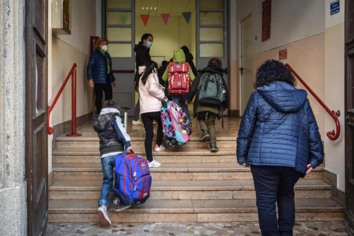
[(153, 138), (154, 138), (154, 124), (153, 120), (156, 120), (158, 123), (158, 128), (157, 128), (157, 140), (156, 143), (161, 146), (162, 144), (162, 137), (164, 134), (162, 133), (162, 121), (161, 121), (161, 115), (160, 112), (148, 112), (148, 113), (143, 113), (141, 114), (141, 119), (144, 124), (145, 128), (145, 153), (146, 153), (146, 158), (148, 161), (153, 161), (153, 154), (152, 154), (152, 144), (153, 144)]

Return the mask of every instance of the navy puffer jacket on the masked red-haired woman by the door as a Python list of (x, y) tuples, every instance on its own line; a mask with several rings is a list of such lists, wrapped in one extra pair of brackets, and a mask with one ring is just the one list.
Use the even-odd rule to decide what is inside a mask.
[(95, 84), (105, 84), (107, 76), (109, 76), (111, 83), (115, 81), (112, 73), (112, 59), (108, 52), (106, 54), (111, 68), (109, 75), (107, 75), (107, 60), (99, 49), (96, 49), (90, 55), (89, 63), (87, 64), (87, 79), (93, 79), (93, 83)]

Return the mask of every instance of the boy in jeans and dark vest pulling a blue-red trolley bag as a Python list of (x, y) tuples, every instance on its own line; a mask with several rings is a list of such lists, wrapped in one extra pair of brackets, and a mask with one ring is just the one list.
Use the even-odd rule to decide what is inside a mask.
[[(97, 214), (103, 226), (110, 226), (107, 207), (108, 195), (113, 186), (115, 158), (125, 148), (131, 151), (130, 136), (126, 133), (120, 118), (119, 105), (113, 100), (105, 102), (105, 108), (99, 115), (92, 118), (93, 128), (99, 137), (99, 152), (103, 171), (101, 197), (98, 199)], [(129, 206), (120, 205), (117, 208), (125, 209)]]

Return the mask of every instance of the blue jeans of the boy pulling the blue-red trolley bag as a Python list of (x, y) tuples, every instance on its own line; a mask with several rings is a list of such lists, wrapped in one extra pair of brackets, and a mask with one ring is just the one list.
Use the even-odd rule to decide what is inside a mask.
[(113, 186), (115, 157), (116, 155), (101, 158), (103, 183), (101, 188), (101, 197), (98, 199), (98, 206), (101, 206), (102, 204), (106, 207), (109, 206), (108, 195)]

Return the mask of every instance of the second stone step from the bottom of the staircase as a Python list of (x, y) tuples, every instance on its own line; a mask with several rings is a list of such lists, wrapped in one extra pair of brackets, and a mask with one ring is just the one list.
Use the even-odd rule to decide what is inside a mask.
[[(102, 181), (60, 181), (49, 187), (49, 199), (97, 200)], [(320, 179), (300, 179), (296, 198), (331, 198), (332, 186)], [(111, 191), (109, 199), (113, 198)], [(153, 181), (150, 200), (255, 199), (252, 180)]]

